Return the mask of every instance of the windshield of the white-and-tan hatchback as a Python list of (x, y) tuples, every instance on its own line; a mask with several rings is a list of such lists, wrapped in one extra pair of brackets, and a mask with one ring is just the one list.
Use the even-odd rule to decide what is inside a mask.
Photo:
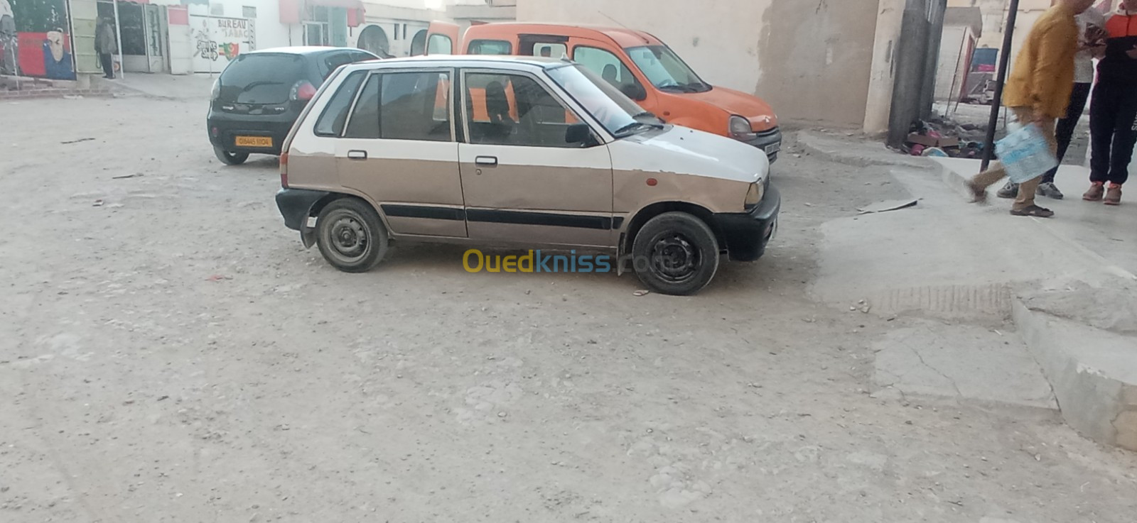
[(571, 65), (549, 69), (548, 74), (613, 136), (623, 137), (661, 126), (654, 115), (644, 111), (588, 68)]

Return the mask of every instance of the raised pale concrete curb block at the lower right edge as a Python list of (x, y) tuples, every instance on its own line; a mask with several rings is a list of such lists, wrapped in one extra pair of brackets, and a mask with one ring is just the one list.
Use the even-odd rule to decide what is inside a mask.
[(1062, 419), (1097, 442), (1137, 452), (1134, 339), (1031, 311), (1018, 297), (1011, 317), (1051, 382)]

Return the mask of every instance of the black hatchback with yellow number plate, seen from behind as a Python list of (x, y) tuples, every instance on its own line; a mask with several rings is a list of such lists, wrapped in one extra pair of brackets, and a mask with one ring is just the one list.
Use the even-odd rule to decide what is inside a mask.
[(236, 166), (250, 153), (280, 155), (284, 137), (319, 84), (345, 64), (379, 59), (360, 49), (275, 48), (236, 57), (209, 102), (209, 142), (222, 162)]

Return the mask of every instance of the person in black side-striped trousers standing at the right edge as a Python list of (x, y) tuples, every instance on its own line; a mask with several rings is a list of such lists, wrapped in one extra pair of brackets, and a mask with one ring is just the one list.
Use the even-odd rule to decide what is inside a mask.
[(1119, 205), (1137, 143), (1137, 0), (1122, 0), (1105, 32), (1105, 58), (1089, 103), (1090, 185), (1081, 197)]

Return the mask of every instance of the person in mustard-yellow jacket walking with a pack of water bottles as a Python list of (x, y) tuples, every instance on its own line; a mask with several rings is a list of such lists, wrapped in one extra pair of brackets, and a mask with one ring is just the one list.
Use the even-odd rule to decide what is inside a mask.
[[(1074, 16), (1089, 9), (1094, 0), (1056, 0), (1038, 17), (1022, 50), (1014, 60), (1014, 69), (1003, 90), (1003, 104), (1014, 112), (1022, 124), (1035, 124), (1046, 136), (1051, 150), (1057, 149), (1054, 126), (1065, 115), (1073, 91), (1074, 54), (1078, 52), (1078, 23)], [(1003, 165), (995, 162), (990, 169), (968, 182), (974, 201), (987, 200), (987, 187), (1006, 176)], [(1035, 191), (1040, 177), (1023, 182), (1019, 197), (1011, 206), (1011, 214), (1049, 218), (1054, 211), (1035, 204)]]

